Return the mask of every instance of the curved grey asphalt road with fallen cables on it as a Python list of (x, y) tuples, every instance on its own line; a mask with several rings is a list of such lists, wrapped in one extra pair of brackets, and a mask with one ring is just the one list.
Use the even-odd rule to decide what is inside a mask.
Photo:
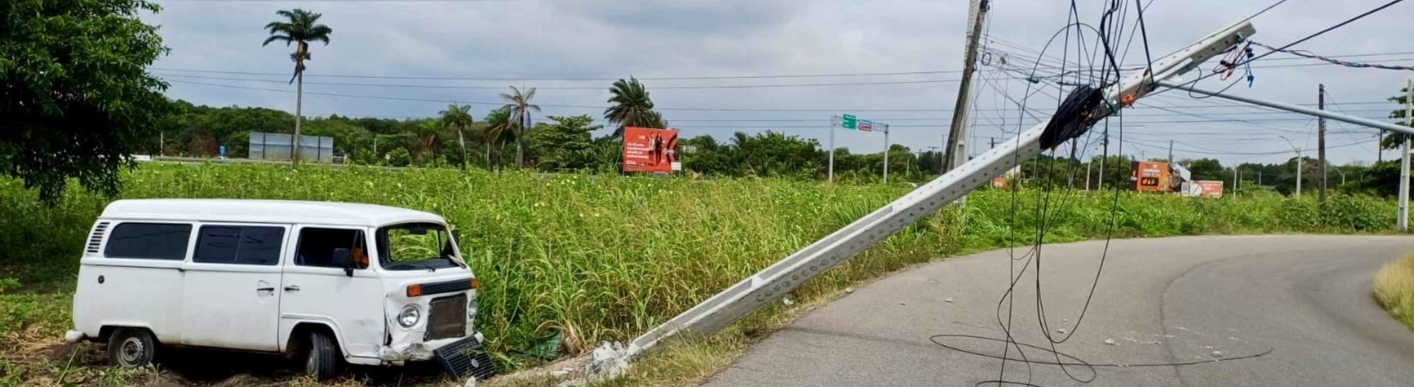
[[(1374, 271), (1414, 251), (1414, 237), (1114, 240), (1076, 328), (1103, 249), (1104, 242), (1085, 242), (1041, 250), (1046, 321), (1053, 339), (1066, 336), (1056, 333), (1060, 328), (1073, 333), (1056, 345), (1059, 352), (1127, 367), (1028, 370), (1007, 362), (1003, 376), (1000, 359), (932, 342), (935, 335), (1005, 336), (997, 305), (1012, 261), (1003, 250), (932, 263), (841, 295), (756, 343), (706, 386), (976, 386), (998, 379), (1046, 387), (1414, 386), (1414, 332), (1370, 295)], [(1011, 331), (1018, 342), (1049, 349), (1032, 273), (1017, 285)], [(959, 336), (936, 340), (993, 356), (1004, 347)], [(1039, 349), (1024, 355), (1056, 362)], [(1019, 359), (1015, 349), (1010, 356)], [(1200, 363), (1137, 366), (1179, 362)]]

